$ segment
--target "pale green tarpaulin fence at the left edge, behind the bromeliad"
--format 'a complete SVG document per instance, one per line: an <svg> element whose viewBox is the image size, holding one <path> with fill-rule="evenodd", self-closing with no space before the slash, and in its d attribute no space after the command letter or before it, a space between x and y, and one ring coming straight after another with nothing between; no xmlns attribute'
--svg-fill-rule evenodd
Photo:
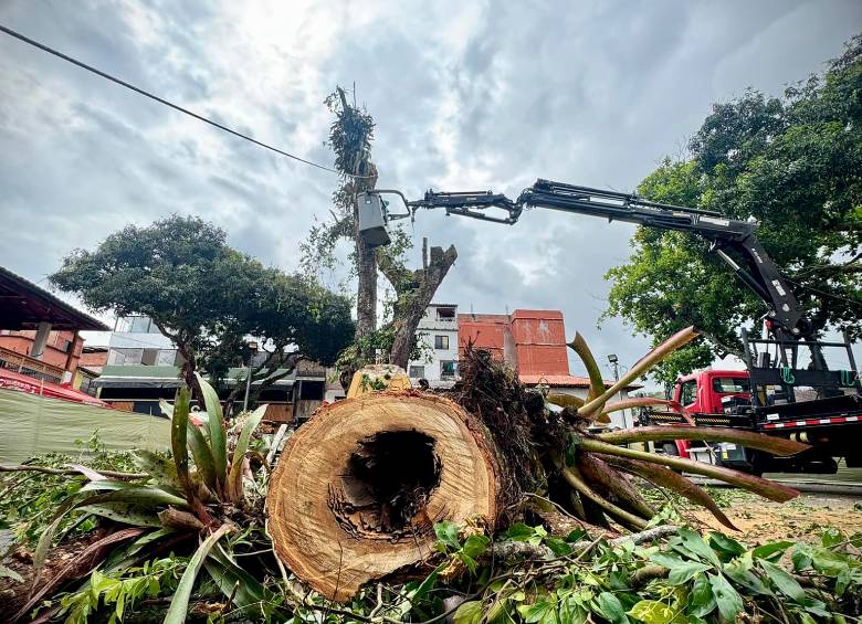
<svg viewBox="0 0 862 624"><path fill-rule="evenodd" d="M18 464L33 455L63 453L77 456L76 440L98 438L112 451L170 447L170 421L0 390L0 462Z"/></svg>

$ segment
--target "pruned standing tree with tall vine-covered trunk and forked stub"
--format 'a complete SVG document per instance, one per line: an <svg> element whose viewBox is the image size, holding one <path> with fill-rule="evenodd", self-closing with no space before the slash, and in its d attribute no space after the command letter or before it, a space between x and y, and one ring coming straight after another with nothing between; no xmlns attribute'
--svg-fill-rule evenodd
<svg viewBox="0 0 862 624"><path fill-rule="evenodd" d="M369 247L359 234L356 195L370 191L377 182L377 168L371 162L375 123L365 110L347 102L343 88L326 98L335 115L329 146L335 152L335 168L343 184L333 193L333 221L315 225L303 244L303 264L309 272L336 263L335 246L341 240L353 244L350 262L357 277L356 342L346 362L348 372L375 360L378 351L388 353L391 363L407 368L416 351L416 330L438 287L458 257L454 246L443 251L422 246L422 268L409 269L404 254L412 248L408 234L400 228L391 231L392 243L386 247ZM377 272L392 285L396 300L391 318L378 328Z"/></svg>

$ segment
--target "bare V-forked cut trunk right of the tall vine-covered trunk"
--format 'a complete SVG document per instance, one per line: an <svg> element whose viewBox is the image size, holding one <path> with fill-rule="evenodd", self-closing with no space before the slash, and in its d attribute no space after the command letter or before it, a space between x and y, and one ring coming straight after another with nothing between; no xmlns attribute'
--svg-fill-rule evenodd
<svg viewBox="0 0 862 624"><path fill-rule="evenodd" d="M398 295L398 305L392 322L396 326L395 340L389 351L389 363L407 370L410 351L416 340L419 321L434 298L437 289L458 258L454 245L443 252L443 247L431 247L431 258L428 258L428 239L422 240L422 268L408 271L400 263L380 257L380 271L392 284Z"/></svg>

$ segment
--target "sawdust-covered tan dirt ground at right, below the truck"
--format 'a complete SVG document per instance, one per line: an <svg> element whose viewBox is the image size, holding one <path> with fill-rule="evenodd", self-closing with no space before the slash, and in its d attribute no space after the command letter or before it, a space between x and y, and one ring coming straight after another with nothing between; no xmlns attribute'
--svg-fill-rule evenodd
<svg viewBox="0 0 862 624"><path fill-rule="evenodd" d="M821 529L835 527L847 535L862 532L862 499L849 496L802 494L788 503L772 503L738 490L711 494L739 528L736 539L749 544L788 539L818 542ZM706 510L687 509L704 528L728 532Z"/></svg>

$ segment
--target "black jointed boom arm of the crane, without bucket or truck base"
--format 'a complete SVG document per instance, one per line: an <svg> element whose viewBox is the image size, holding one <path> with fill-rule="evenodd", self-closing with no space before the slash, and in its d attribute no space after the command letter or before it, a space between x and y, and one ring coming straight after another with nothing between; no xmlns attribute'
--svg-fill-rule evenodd
<svg viewBox="0 0 862 624"><path fill-rule="evenodd" d="M487 192L441 193L428 191L423 200L409 202L418 208L443 208L456 214L513 224L524 209L544 208L575 214L603 216L646 228L697 234L712 243L716 252L755 294L769 307L768 317L788 338L809 337L809 324L787 281L766 253L755 231L757 223L727 219L718 212L646 201L637 194L577 187L550 180L536 180L516 201ZM506 216L491 216L485 209L496 208ZM725 250L735 250L745 258L740 266Z"/></svg>

